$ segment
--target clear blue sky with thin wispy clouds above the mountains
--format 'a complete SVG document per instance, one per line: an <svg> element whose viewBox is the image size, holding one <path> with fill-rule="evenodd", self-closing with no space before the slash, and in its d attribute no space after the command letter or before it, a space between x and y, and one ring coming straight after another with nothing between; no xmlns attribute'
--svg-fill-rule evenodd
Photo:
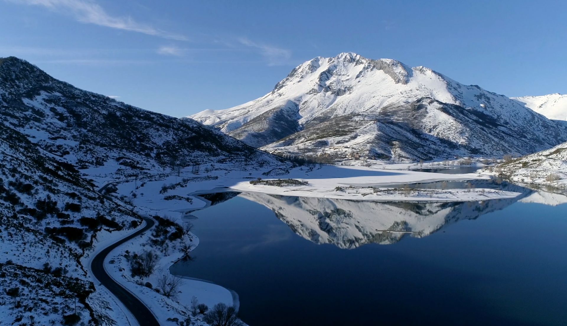
<svg viewBox="0 0 567 326"><path fill-rule="evenodd" d="M340 52L507 96L565 94L565 12L565 1L0 0L0 56L177 117L256 99Z"/></svg>

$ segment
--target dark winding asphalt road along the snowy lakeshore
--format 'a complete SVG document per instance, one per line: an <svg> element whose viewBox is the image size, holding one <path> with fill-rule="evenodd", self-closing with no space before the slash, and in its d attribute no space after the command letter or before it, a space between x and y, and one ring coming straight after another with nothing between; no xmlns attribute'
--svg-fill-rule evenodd
<svg viewBox="0 0 567 326"><path fill-rule="evenodd" d="M100 188L99 192L108 186L105 185ZM103 195L104 196L104 195ZM96 277L104 287L106 287L112 294L116 296L124 304L124 306L130 311L130 313L136 318L140 326L159 326L158 320L155 318L154 314L150 311L145 304L143 304L136 296L130 293L128 290L124 289L119 283L107 274L104 270L104 260L107 255L112 251L112 249L118 247L122 243L142 234L143 232L149 230L154 226L155 221L152 218L142 216L144 221L146 221L146 226L142 227L140 230L126 236L108 247L104 248L103 251L99 252L91 262L92 274Z"/></svg>

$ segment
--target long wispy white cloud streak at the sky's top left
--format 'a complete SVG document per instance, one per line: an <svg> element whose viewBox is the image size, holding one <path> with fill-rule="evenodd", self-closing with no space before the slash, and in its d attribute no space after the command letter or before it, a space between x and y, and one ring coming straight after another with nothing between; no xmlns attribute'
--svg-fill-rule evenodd
<svg viewBox="0 0 567 326"><path fill-rule="evenodd" d="M86 24L121 29L147 35L159 36L164 39L185 41L187 37L162 31L147 24L136 22L131 17L109 15L98 3L90 0L5 0L24 5L43 6L54 12L72 16L75 20Z"/></svg>

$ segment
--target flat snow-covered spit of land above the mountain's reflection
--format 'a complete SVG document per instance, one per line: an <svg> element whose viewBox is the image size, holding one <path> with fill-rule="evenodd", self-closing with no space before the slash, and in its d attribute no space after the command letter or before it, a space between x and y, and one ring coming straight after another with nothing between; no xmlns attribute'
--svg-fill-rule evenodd
<svg viewBox="0 0 567 326"><path fill-rule="evenodd" d="M336 171L340 170L340 171ZM339 173L343 177L334 177ZM419 171L388 171L373 167L322 167L308 173L289 173L277 179L294 179L306 185L262 185L241 181L230 186L243 192L261 192L281 196L321 197L370 201L481 201L513 198L515 192L496 189L415 189L404 190L406 184L433 183L438 181L489 180L490 176L466 174L443 174ZM301 178L300 178L301 177ZM269 178L270 180L274 178Z"/></svg>

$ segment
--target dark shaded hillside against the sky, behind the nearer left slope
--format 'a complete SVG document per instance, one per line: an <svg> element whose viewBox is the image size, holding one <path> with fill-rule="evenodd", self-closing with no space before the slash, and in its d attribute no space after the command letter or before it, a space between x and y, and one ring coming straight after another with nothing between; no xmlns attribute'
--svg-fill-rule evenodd
<svg viewBox="0 0 567 326"><path fill-rule="evenodd" d="M191 119L79 90L15 57L0 59L0 116L49 155L95 174L142 175L219 160L278 162Z"/></svg>

